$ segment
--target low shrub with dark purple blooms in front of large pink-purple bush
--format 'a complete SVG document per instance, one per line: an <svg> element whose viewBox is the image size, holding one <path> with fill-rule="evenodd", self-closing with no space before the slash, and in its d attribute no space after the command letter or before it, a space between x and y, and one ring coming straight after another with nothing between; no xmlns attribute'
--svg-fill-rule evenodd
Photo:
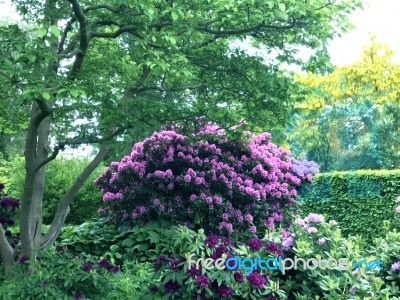
<svg viewBox="0 0 400 300"><path fill-rule="evenodd" d="M227 236L206 236L202 229L194 232L179 227L170 236L169 247L153 260L154 278L160 283L151 285L143 299L284 299L286 293L279 288L279 272L209 269L196 261L234 256L277 257L284 255L282 242L288 237L288 232L275 231L263 239L253 237L246 243L237 243Z"/></svg>

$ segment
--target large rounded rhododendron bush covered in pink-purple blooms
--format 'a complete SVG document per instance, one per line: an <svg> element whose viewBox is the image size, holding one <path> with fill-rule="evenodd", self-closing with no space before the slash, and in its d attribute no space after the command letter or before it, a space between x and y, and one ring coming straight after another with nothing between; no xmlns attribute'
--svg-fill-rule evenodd
<svg viewBox="0 0 400 300"><path fill-rule="evenodd" d="M99 213L116 223L163 217L228 235L285 227L307 178L293 171L290 152L269 133L244 137L230 140L212 124L191 137L154 133L95 180L104 201Z"/></svg>

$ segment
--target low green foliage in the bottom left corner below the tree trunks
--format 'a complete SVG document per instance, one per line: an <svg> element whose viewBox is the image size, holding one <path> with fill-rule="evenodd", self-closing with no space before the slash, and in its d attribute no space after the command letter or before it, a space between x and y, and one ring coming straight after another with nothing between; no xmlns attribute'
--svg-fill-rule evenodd
<svg viewBox="0 0 400 300"><path fill-rule="evenodd" d="M150 284L148 270L133 261L120 270L106 259L52 248L35 260L21 257L12 279L0 274L0 299L128 299Z"/></svg>

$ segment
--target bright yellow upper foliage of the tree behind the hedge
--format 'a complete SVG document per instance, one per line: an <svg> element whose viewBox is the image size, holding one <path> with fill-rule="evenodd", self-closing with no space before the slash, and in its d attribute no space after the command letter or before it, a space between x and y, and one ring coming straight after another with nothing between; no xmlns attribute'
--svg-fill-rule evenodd
<svg viewBox="0 0 400 300"><path fill-rule="evenodd" d="M337 103L362 102L369 99L377 104L397 102L400 98L400 65L393 61L394 51L377 43L371 36L370 45L358 61L341 66L330 74L300 75L297 80L312 89L299 107L319 109Z"/></svg>

